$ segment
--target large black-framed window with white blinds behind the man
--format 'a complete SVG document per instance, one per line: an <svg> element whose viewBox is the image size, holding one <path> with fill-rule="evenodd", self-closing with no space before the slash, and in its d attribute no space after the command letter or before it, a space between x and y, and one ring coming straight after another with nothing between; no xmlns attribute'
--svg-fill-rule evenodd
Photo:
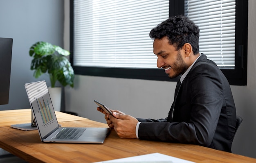
<svg viewBox="0 0 256 163"><path fill-rule="evenodd" d="M148 34L185 14L200 27L200 52L231 85L246 85L247 11L243 0L71 0L71 63L76 74L176 80L157 68Z"/></svg>

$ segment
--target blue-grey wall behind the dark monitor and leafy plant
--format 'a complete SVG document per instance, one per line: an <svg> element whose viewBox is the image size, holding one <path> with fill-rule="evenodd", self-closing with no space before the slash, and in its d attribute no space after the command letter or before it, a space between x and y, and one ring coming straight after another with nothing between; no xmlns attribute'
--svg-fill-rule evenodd
<svg viewBox="0 0 256 163"><path fill-rule="evenodd" d="M36 79L30 70L29 48L36 41L47 41L63 47L64 1L62 0L1 0L0 37L13 38L9 104L0 110L30 108L25 83Z"/></svg>

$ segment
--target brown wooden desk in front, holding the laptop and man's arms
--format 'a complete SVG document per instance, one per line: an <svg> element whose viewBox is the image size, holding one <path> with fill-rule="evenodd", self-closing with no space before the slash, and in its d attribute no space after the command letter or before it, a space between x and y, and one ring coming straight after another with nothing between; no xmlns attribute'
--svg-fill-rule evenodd
<svg viewBox="0 0 256 163"><path fill-rule="evenodd" d="M0 111L0 114L2 112ZM65 115L70 117L71 115ZM66 127L108 127L92 120L60 122ZM0 148L31 163L87 163L159 152L197 163L256 163L256 159L202 146L121 139L111 131L103 144L42 143L37 130L0 128Z"/></svg>

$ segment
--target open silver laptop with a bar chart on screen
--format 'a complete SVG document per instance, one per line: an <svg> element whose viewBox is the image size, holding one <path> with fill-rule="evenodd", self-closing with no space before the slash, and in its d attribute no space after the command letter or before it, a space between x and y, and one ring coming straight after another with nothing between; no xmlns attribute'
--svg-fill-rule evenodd
<svg viewBox="0 0 256 163"><path fill-rule="evenodd" d="M27 96L43 142L103 143L110 128L59 127L45 80L26 83Z"/></svg>

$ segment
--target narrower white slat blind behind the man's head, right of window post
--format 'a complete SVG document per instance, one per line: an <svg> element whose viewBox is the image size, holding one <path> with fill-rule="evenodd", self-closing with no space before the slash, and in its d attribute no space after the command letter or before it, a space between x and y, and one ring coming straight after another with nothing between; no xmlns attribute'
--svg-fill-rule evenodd
<svg viewBox="0 0 256 163"><path fill-rule="evenodd" d="M236 0L185 0L185 15L200 28L200 52L234 69Z"/></svg>

